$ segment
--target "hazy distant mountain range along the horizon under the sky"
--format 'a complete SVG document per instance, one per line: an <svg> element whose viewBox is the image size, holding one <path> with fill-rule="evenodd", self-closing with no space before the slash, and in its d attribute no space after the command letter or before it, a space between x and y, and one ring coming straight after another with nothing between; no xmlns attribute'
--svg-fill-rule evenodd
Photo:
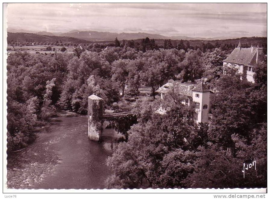
<svg viewBox="0 0 270 199"><path fill-rule="evenodd" d="M150 34L145 32L137 32L137 33L115 33L115 32L98 32L98 31L80 31L80 30L72 30L69 32L35 32L24 29L12 29L8 28L8 32L16 33L16 32L26 32L26 33L35 33L38 35L48 35L48 36L60 36L60 37L73 37L86 41L113 41L117 37L118 40L131 40L131 39L141 39L141 38L150 38L150 39L172 39L172 40L217 40L217 39L228 39L231 37L214 37L214 38L202 38L202 37L188 37L188 36L164 36L159 34Z"/></svg>

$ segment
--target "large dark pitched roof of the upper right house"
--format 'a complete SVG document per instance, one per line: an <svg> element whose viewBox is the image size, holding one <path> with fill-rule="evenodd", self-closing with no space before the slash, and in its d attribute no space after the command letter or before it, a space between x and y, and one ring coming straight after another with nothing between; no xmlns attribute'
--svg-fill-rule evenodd
<svg viewBox="0 0 270 199"><path fill-rule="evenodd" d="M253 66L254 63L256 63L257 50L258 49L253 49L251 52L251 48L234 48L232 53L223 61Z"/></svg>

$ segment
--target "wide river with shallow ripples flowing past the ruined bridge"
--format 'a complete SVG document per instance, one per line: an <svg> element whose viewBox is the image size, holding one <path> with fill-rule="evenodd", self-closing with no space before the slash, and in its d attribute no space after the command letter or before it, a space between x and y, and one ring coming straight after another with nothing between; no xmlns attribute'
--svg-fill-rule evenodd
<svg viewBox="0 0 270 199"><path fill-rule="evenodd" d="M8 157L8 188L105 188L106 158L122 135L107 128L102 142L93 142L87 131L87 116L58 112L32 144Z"/></svg>

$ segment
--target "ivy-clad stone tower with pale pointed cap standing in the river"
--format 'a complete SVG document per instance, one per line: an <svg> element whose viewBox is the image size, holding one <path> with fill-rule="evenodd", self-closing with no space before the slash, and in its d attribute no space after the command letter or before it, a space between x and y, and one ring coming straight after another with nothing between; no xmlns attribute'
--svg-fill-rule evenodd
<svg viewBox="0 0 270 199"><path fill-rule="evenodd" d="M103 99L91 95L88 97L88 137L99 142L102 136Z"/></svg>

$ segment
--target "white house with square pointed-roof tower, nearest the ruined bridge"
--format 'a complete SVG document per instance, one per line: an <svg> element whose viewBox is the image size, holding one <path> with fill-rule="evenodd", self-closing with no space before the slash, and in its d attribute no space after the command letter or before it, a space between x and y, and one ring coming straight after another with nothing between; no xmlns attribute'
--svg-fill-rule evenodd
<svg viewBox="0 0 270 199"><path fill-rule="evenodd" d="M167 83L156 90L156 92L160 94L161 99L167 100L166 93L171 86L173 86L172 83ZM197 84L177 83L177 87L179 88L180 94L186 96L182 104L190 106L191 101L196 103L196 114L193 115L193 121L195 121L196 124L208 123L209 119L212 117L211 114L209 114L210 93L212 92L206 88L202 81L199 81Z"/></svg>

